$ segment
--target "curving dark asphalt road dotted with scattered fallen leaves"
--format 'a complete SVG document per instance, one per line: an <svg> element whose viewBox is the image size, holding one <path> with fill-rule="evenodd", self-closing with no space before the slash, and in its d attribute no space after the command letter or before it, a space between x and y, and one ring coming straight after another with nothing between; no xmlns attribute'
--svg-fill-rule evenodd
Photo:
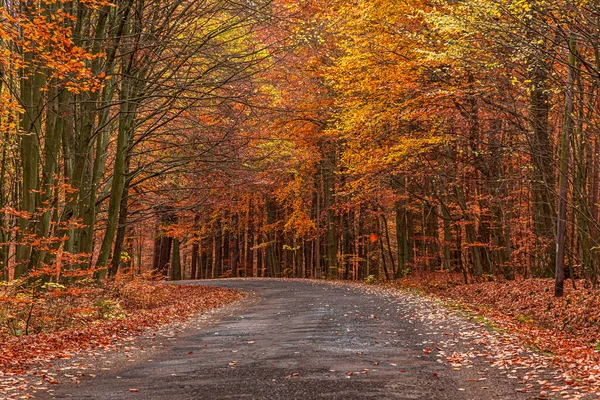
<svg viewBox="0 0 600 400"><path fill-rule="evenodd" d="M474 346L459 332L475 332L481 325L420 296L365 294L355 285L305 280L185 284L229 287L250 295L242 307L180 332L151 355L114 363L94 378L81 378L78 387L56 385L43 398L533 397L518 392L523 386L491 367L485 357L475 357L462 368L451 366L444 353Z"/></svg>

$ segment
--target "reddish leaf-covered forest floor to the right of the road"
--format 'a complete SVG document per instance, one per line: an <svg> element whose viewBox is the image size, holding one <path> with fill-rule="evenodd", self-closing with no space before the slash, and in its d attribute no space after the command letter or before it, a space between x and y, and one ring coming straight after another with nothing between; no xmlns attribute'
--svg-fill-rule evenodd
<svg viewBox="0 0 600 400"><path fill-rule="evenodd" d="M569 391L600 393L600 292L583 281L565 283L565 296L554 297L554 281L517 279L465 285L458 275L412 275L377 285L386 291L430 295L445 307L466 314L488 327L480 343L495 351L496 364L533 370L553 366L555 379L541 382L543 395ZM523 357L521 348L535 349L537 357ZM541 357L541 359L540 359ZM542 360L542 361L540 361ZM518 377L527 387L540 383L532 375Z"/></svg>

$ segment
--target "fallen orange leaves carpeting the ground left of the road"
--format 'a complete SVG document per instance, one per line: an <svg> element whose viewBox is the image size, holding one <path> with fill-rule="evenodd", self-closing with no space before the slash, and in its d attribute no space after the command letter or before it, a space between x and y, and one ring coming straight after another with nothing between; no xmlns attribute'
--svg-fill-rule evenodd
<svg viewBox="0 0 600 400"><path fill-rule="evenodd" d="M85 290L71 299L70 307L71 311L86 311L85 317L70 318L69 326L52 325L49 332L20 336L0 329L0 399L27 399L36 391L50 390L59 381L49 371L61 359L85 358L86 352L97 355L98 351L121 349L123 343L128 344L149 329L188 320L241 298L239 292L223 288L143 280L122 284L118 289ZM47 317L56 304L46 300L37 312ZM107 301L110 312L99 312L98 308L106 307ZM127 351L127 346L124 348Z"/></svg>

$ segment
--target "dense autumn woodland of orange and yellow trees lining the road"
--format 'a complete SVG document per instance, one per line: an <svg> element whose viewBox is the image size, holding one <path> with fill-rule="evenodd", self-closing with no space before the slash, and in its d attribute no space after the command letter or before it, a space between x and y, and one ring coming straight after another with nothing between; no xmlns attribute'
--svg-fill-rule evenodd
<svg viewBox="0 0 600 400"><path fill-rule="evenodd" d="M600 277L600 6L0 0L5 280Z"/></svg>

